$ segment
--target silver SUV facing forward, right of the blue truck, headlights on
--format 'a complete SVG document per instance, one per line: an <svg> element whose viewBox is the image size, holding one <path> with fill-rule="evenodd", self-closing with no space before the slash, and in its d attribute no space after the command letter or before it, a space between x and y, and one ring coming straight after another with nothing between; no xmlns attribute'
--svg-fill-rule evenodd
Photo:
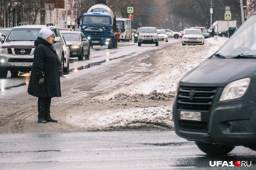
<svg viewBox="0 0 256 170"><path fill-rule="evenodd" d="M155 27L141 27L138 37L138 46L141 44L155 44L158 46L158 33Z"/></svg>

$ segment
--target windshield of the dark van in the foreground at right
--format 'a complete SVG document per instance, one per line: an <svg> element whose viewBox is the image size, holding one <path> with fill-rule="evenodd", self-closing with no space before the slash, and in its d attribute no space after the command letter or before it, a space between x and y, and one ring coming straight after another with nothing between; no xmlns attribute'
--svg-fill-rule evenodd
<svg viewBox="0 0 256 170"><path fill-rule="evenodd" d="M256 15L249 17L216 54L226 58L240 54L256 56Z"/></svg>

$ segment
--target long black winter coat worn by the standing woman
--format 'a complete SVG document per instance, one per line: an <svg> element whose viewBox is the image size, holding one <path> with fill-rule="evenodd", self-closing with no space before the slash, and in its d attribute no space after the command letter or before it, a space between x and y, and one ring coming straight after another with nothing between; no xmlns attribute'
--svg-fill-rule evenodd
<svg viewBox="0 0 256 170"><path fill-rule="evenodd" d="M41 37L35 41L34 61L28 84L28 94L36 97L61 97L59 58L52 44ZM44 83L39 85L39 79Z"/></svg>

